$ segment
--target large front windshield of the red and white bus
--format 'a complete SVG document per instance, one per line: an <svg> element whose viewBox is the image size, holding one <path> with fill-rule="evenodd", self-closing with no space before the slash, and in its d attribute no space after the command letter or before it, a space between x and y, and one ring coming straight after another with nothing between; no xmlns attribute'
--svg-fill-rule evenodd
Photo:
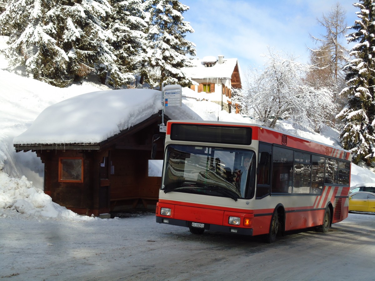
<svg viewBox="0 0 375 281"><path fill-rule="evenodd" d="M255 153L244 149L169 145L162 190L252 198Z"/></svg>

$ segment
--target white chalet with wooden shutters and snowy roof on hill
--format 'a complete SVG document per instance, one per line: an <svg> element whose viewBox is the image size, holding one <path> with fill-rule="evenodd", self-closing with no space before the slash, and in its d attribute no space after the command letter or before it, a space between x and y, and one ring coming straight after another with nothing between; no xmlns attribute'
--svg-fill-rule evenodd
<svg viewBox="0 0 375 281"><path fill-rule="evenodd" d="M232 89L241 89L241 70L237 58L225 59L223 55L193 60L193 67L183 69L194 84L190 89L200 93L202 99L222 106L229 113L240 113L241 106L232 103Z"/></svg>

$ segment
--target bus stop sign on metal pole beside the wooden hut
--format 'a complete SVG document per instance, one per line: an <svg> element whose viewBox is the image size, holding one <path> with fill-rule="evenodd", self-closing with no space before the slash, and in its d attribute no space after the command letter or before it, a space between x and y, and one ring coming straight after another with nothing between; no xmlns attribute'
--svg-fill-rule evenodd
<svg viewBox="0 0 375 281"><path fill-rule="evenodd" d="M164 111L166 106L182 106L182 87L181 85L166 85L162 83L162 124L159 125L159 132L166 132L164 125Z"/></svg>

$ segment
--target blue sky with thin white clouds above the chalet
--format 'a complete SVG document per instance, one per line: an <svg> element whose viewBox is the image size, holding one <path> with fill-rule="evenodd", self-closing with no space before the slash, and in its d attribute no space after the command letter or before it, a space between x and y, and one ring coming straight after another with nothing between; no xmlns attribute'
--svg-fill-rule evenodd
<svg viewBox="0 0 375 281"><path fill-rule="evenodd" d="M307 48L325 30L317 23L337 2L346 10L347 26L357 19L355 0L180 0L190 7L183 13L195 30L186 39L196 45L196 57L224 55L238 58L242 71L261 68L267 46L308 62ZM347 48L347 41L342 39Z"/></svg>

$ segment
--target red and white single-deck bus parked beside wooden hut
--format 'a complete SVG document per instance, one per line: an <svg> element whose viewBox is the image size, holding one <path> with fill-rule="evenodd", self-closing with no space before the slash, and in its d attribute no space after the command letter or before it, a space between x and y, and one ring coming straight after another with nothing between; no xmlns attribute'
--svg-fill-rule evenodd
<svg viewBox="0 0 375 281"><path fill-rule="evenodd" d="M351 153L254 124L168 121L156 222L265 235L348 217Z"/></svg>

